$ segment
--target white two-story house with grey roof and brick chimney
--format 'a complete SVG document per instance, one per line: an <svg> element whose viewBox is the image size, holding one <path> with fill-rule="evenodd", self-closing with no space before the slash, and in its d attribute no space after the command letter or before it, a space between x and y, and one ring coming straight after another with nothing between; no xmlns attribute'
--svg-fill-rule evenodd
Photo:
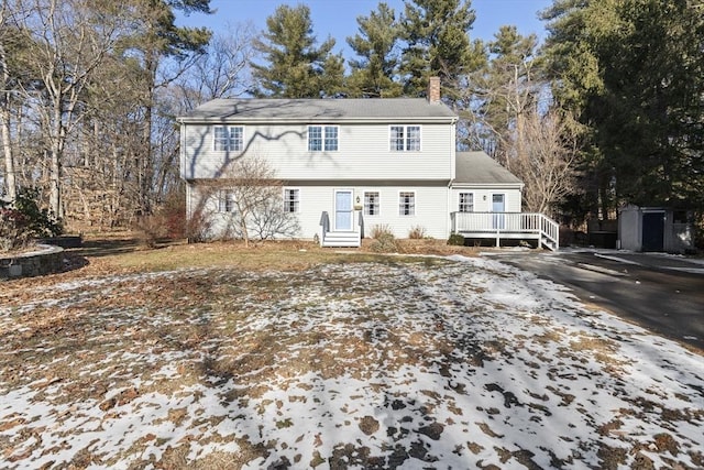
<svg viewBox="0 0 704 470"><path fill-rule="evenodd" d="M484 153L457 152L458 116L440 100L439 79L428 96L204 103L178 119L189 217L208 204L221 230L232 210L227 193L204 201L200 189L227 178L232 162L256 157L285 182L280 203L297 218L297 238L359 245L377 225L397 238L415 228L438 239L507 238L522 183ZM471 220L472 212L503 219Z"/></svg>

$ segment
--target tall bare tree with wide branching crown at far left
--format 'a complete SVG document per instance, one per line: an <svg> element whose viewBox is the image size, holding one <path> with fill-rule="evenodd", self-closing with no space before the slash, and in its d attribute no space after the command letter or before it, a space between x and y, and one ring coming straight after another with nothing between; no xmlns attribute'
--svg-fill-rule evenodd
<svg viewBox="0 0 704 470"><path fill-rule="evenodd" d="M25 89L35 102L47 142L50 210L62 216L62 160L82 117L82 95L95 70L125 31L121 2L18 0L14 22L26 34L25 61L40 87ZM112 21L103 21L106 14Z"/></svg>

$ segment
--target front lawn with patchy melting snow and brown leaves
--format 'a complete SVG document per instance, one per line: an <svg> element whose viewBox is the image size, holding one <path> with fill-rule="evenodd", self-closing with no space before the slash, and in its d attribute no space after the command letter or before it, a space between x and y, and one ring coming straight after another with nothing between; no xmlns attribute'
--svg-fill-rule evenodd
<svg viewBox="0 0 704 470"><path fill-rule="evenodd" d="M2 468L703 468L704 358L486 259L0 286Z"/></svg>

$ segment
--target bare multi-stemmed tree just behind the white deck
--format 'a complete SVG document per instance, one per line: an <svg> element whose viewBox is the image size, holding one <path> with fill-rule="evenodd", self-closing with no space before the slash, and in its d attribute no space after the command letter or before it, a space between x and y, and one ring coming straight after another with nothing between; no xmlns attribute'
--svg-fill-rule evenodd
<svg viewBox="0 0 704 470"><path fill-rule="evenodd" d="M573 193L579 132L570 117L537 109L524 114L521 154L512 171L526 184L524 204L534 212L554 217L556 205Z"/></svg>

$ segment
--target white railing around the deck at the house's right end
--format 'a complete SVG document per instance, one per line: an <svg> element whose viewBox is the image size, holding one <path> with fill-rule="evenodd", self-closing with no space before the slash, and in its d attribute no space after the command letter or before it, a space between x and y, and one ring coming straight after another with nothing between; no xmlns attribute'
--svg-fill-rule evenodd
<svg viewBox="0 0 704 470"><path fill-rule="evenodd" d="M558 249L560 226L554 220L537 212L452 212L452 232L475 237L531 236L543 238ZM546 243L548 244L548 243Z"/></svg>

